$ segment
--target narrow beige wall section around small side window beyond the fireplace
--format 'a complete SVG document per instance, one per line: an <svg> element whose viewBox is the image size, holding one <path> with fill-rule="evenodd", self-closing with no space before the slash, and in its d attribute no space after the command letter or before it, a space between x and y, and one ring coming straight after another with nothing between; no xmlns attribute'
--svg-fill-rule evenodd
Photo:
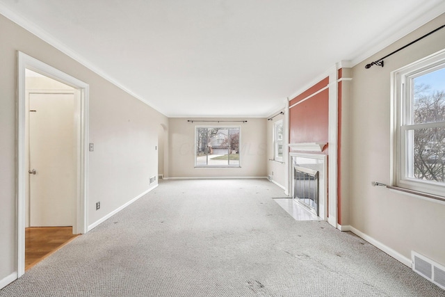
<svg viewBox="0 0 445 297"><path fill-rule="evenodd" d="M284 111L284 109L282 111ZM277 111L277 113L280 113L280 111ZM274 113L273 115L276 115L277 113ZM287 170L287 163L280 163L273 161L274 158L273 124L279 120L283 120L284 133L286 133L287 129L284 127L284 125L286 125L286 122L284 121L284 115L277 115L272 120L267 121L267 174L272 175L273 182L286 188L285 175ZM284 150L288 150L288 148L286 146L285 141L283 141L283 143L284 143L283 146L283 162L284 162L285 161Z"/></svg>

